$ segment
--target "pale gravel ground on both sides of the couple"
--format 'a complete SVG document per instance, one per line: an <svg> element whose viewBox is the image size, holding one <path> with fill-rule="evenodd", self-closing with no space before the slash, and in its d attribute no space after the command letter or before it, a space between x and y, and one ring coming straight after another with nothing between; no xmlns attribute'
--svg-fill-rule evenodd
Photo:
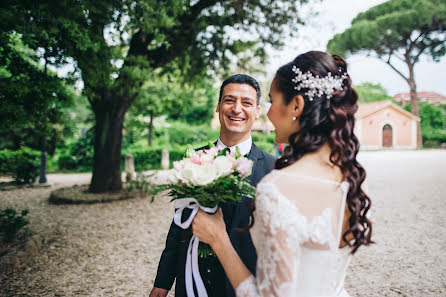
<svg viewBox="0 0 446 297"><path fill-rule="evenodd" d="M353 258L348 291L446 296L446 151L362 152L360 160L368 172L376 244ZM48 204L55 188L89 179L52 174L51 188L0 192L0 208L29 208L30 227L45 238L38 256L13 275L0 275L0 296L148 296L172 204L162 198Z"/></svg>

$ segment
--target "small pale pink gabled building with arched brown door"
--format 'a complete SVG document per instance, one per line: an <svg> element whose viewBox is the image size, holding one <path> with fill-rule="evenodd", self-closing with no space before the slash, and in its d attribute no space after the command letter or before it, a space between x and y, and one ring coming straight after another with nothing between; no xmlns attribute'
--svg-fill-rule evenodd
<svg viewBox="0 0 446 297"><path fill-rule="evenodd" d="M355 134L362 149L416 148L420 118L391 101L359 104Z"/></svg>

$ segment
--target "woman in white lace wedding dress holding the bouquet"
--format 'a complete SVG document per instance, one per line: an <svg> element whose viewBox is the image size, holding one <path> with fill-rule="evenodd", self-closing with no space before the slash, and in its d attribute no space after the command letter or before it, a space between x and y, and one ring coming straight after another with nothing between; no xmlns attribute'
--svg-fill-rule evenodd
<svg viewBox="0 0 446 297"><path fill-rule="evenodd" d="M277 70L269 96L276 142L289 145L257 186L250 226L256 276L232 247L221 210L200 211L194 235L211 245L238 297L349 296L347 266L372 243L372 225L347 65L323 52L299 55Z"/></svg>

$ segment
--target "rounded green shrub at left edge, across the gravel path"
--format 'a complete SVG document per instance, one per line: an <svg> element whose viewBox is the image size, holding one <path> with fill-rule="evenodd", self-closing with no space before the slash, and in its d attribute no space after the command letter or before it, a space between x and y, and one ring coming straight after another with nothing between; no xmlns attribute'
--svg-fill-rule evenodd
<svg viewBox="0 0 446 297"><path fill-rule="evenodd" d="M11 175L19 184L35 182L39 176L40 152L30 148L0 150L0 173Z"/></svg>

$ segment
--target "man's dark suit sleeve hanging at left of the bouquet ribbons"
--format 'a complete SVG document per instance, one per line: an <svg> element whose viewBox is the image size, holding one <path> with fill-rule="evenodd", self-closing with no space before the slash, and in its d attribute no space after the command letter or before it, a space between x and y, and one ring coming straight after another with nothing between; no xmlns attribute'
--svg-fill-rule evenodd
<svg viewBox="0 0 446 297"><path fill-rule="evenodd" d="M178 245L180 240L180 233L182 229L172 224L167 234L166 247L161 254L154 287L170 290L176 277L176 269L178 262Z"/></svg>

